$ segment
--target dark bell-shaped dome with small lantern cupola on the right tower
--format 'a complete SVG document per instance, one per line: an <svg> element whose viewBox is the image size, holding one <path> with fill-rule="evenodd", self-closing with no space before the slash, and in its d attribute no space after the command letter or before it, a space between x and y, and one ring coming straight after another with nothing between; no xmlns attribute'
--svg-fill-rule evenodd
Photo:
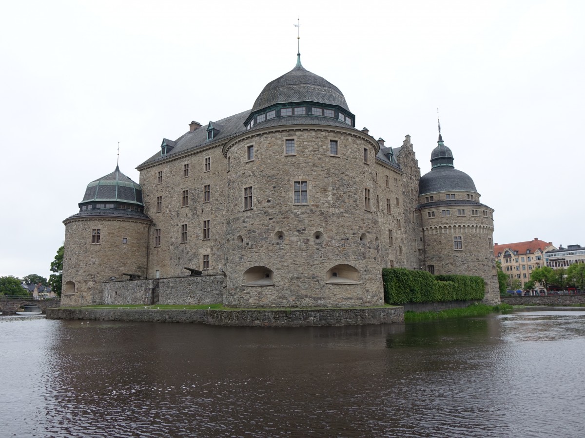
<svg viewBox="0 0 585 438"><path fill-rule="evenodd" d="M421 176L418 194L463 191L477 193L473 179L453 166L453 152L445 146L441 133L438 145L431 152L431 172Z"/></svg>

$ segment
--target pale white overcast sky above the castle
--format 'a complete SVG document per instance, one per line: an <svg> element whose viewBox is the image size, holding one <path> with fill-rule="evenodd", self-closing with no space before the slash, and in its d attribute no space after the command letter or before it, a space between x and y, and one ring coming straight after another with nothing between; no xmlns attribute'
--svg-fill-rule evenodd
<svg viewBox="0 0 585 438"><path fill-rule="evenodd" d="M2 2L0 276L48 277L85 186L301 60L430 170L439 108L494 242L585 245L583 1ZM581 225L580 225L581 224Z"/></svg>

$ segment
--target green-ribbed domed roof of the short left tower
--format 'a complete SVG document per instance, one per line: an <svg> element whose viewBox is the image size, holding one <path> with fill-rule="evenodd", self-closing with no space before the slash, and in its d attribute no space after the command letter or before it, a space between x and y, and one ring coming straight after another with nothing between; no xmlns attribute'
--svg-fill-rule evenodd
<svg viewBox="0 0 585 438"><path fill-rule="evenodd" d="M124 175L118 166L112 173L93 180L87 185L81 204L94 201L120 201L144 206L142 203L142 187Z"/></svg>

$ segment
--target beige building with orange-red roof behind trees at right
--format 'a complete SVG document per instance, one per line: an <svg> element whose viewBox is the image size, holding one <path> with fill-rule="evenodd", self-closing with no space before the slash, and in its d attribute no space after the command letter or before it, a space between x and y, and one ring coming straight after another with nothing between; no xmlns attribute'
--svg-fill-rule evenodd
<svg viewBox="0 0 585 438"><path fill-rule="evenodd" d="M494 245L494 258L502 264L502 270L510 279L518 279L521 287L530 280L532 270L546 266L544 253L556 249L552 242L539 240L537 237L528 242Z"/></svg>

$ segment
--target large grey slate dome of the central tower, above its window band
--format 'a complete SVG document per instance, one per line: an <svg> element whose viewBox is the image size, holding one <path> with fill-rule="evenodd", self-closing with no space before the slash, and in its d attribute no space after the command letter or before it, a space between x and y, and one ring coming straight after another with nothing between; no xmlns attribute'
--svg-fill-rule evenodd
<svg viewBox="0 0 585 438"><path fill-rule="evenodd" d="M338 105L349 111L343 93L335 85L304 67L300 60L295 68L269 82L254 102L252 112L288 102L318 102Z"/></svg>

